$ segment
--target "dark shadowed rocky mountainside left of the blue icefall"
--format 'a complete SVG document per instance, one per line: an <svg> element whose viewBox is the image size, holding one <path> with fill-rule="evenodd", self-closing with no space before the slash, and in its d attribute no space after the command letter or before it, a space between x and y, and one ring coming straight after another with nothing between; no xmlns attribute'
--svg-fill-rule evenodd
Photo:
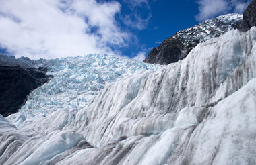
<svg viewBox="0 0 256 165"><path fill-rule="evenodd" d="M0 59L0 114L7 117L16 113L25 103L27 95L51 76L46 75L46 68L26 68L28 64L21 67L29 58L16 60L14 56L1 55Z"/></svg>

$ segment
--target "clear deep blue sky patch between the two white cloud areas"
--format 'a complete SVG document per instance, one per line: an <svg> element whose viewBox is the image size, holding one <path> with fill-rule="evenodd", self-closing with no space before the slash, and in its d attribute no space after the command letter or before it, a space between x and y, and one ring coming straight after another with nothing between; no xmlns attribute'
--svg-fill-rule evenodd
<svg viewBox="0 0 256 165"><path fill-rule="evenodd" d="M123 50L124 54L137 56L137 52L140 51L147 55L153 47L159 46L160 43L175 32L192 27L200 22L195 20L195 15L199 13L198 5L195 1L159 0L150 1L149 5L148 15L150 15L150 19L146 22L145 28L142 30L133 28L133 33L137 36L139 44L131 44L129 47L136 49L136 46L138 46L137 51L133 52L127 48Z"/></svg>

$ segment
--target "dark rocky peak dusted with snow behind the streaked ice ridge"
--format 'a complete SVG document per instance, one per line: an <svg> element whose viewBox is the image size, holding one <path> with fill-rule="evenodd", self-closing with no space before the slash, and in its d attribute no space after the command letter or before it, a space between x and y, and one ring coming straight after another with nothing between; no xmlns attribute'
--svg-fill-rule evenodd
<svg viewBox="0 0 256 165"><path fill-rule="evenodd" d="M215 38L234 29L243 15L228 14L199 23L194 27L181 30L153 48L143 62L151 64L170 64L187 56L201 42Z"/></svg>

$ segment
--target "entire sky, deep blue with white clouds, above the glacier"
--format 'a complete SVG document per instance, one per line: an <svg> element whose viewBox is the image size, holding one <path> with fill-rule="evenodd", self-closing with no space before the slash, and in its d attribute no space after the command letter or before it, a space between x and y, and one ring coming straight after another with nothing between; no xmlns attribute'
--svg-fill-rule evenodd
<svg viewBox="0 0 256 165"><path fill-rule="evenodd" d="M115 54L137 60L179 30L251 0L0 0L0 54Z"/></svg>

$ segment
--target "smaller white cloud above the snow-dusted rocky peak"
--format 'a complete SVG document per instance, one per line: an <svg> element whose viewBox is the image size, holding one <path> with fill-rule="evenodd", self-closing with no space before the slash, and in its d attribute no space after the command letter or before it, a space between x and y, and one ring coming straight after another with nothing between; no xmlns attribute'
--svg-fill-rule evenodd
<svg viewBox="0 0 256 165"><path fill-rule="evenodd" d="M197 21L204 21L226 13L243 13L249 5L249 1L244 0L199 0L199 14L195 16Z"/></svg>

